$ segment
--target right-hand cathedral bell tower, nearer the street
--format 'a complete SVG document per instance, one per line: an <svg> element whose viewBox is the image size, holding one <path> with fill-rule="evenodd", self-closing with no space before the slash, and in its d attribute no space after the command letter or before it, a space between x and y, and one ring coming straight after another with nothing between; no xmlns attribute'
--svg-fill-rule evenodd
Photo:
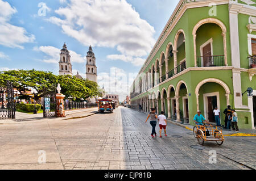
<svg viewBox="0 0 256 181"><path fill-rule="evenodd" d="M86 61L86 79L97 83L96 58L91 46L87 52Z"/></svg>

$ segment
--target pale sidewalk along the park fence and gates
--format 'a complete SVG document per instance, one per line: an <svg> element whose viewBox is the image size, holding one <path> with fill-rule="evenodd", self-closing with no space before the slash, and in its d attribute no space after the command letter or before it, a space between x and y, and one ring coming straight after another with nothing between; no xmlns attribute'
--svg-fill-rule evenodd
<svg viewBox="0 0 256 181"><path fill-rule="evenodd" d="M67 110L65 111L66 117L43 117L43 113L28 114L22 112L16 112L16 119L3 119L0 120L0 124L15 124L19 122L31 122L31 121L46 121L46 120L70 120L70 119L79 119L82 117L88 117L96 114L98 108L88 108L82 110Z"/></svg>

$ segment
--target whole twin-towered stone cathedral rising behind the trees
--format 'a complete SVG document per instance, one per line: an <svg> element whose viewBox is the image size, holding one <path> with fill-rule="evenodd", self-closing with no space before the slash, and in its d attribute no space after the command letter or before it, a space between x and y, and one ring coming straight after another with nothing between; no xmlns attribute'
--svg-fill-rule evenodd
<svg viewBox="0 0 256 181"><path fill-rule="evenodd" d="M92 46L89 47L89 51L86 56L86 79L97 83L97 66L96 58L93 53ZM73 75L71 56L69 55L69 50L67 45L64 43L63 48L60 50L60 61L59 61L59 75ZM76 78L82 78L77 71Z"/></svg>

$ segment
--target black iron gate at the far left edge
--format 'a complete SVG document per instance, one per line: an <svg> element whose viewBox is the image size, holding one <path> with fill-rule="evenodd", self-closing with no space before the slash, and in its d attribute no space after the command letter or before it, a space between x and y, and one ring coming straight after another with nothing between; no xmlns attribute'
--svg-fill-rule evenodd
<svg viewBox="0 0 256 181"><path fill-rule="evenodd" d="M7 81L6 86L0 86L0 119L15 119L15 111L13 84Z"/></svg>

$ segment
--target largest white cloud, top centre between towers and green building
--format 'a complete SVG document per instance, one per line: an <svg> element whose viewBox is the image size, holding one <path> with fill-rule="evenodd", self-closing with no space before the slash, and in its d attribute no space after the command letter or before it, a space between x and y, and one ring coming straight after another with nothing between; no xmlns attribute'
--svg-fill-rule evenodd
<svg viewBox="0 0 256 181"><path fill-rule="evenodd" d="M138 12L126 0L70 0L60 7L49 22L85 46L116 48L125 61L142 65L154 46L154 27L140 18Z"/></svg>

